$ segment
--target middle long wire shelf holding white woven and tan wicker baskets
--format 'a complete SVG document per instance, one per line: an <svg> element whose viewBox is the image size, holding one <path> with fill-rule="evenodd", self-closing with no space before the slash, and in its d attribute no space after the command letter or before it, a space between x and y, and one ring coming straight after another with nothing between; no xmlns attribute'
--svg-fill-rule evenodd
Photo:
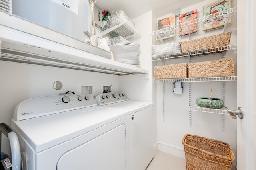
<svg viewBox="0 0 256 170"><path fill-rule="evenodd" d="M211 55L211 54L216 54L216 53L227 53L227 52L233 52L237 48L237 45L228 45L228 46L223 46L223 47L216 47L212 49L203 49L203 50L198 50L198 51L190 51L186 53L179 53L179 54L173 54L173 55L166 55L162 57L154 57L152 58L153 61L156 60L163 60L163 59L177 59L180 57L197 57L197 56L202 56L202 55Z"/></svg>

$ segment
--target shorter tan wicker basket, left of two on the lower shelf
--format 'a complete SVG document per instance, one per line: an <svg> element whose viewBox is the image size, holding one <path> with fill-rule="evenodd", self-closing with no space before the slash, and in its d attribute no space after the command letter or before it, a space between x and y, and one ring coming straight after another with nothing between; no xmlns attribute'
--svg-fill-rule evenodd
<svg viewBox="0 0 256 170"><path fill-rule="evenodd" d="M154 67L154 79L188 78L188 64L172 64Z"/></svg>

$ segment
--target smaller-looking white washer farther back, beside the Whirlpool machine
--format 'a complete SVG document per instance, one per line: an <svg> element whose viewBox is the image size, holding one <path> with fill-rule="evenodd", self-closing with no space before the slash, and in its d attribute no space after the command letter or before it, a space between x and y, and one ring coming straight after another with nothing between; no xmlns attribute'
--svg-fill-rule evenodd
<svg viewBox="0 0 256 170"><path fill-rule="evenodd" d="M128 100L122 92L99 94L99 106L130 112L130 169L145 170L154 157L153 103Z"/></svg>

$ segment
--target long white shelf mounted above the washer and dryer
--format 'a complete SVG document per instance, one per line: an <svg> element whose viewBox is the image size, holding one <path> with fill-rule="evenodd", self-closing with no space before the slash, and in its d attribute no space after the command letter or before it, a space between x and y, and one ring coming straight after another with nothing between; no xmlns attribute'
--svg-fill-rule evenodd
<svg viewBox="0 0 256 170"><path fill-rule="evenodd" d="M111 53L1 12L1 60L116 75L148 70L110 60Z"/></svg>

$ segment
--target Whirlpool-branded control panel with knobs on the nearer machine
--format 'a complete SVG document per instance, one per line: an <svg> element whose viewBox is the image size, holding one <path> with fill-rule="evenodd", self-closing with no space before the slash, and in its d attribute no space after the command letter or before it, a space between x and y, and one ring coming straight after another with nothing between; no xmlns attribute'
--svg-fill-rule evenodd
<svg viewBox="0 0 256 170"><path fill-rule="evenodd" d="M90 94L42 96L20 102L14 110L13 119L19 121L96 105Z"/></svg>

